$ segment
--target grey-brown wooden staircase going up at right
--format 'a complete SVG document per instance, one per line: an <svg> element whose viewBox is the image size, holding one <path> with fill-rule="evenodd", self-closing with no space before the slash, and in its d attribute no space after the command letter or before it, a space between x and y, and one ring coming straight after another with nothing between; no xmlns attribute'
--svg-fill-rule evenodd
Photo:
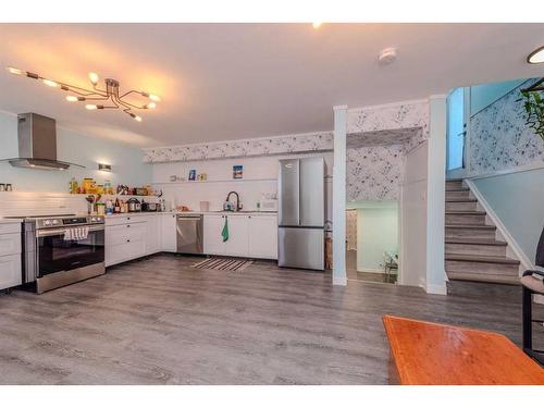
<svg viewBox="0 0 544 408"><path fill-rule="evenodd" d="M519 285L520 262L507 257L507 244L496 239L496 226L485 215L462 181L446 182L445 268L449 283Z"/></svg>

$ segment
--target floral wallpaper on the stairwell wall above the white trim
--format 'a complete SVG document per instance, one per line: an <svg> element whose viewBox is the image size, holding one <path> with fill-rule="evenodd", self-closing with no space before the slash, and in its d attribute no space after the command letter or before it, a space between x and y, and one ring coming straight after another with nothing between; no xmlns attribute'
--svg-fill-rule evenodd
<svg viewBox="0 0 544 408"><path fill-rule="evenodd" d="M526 125L520 88L511 90L470 120L470 175L544 162L544 143Z"/></svg>

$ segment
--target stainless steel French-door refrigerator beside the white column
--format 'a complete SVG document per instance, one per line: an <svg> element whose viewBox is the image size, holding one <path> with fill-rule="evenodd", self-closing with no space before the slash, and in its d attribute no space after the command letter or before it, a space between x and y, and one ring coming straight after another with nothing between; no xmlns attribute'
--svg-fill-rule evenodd
<svg viewBox="0 0 544 408"><path fill-rule="evenodd" d="M280 160L279 267L324 270L323 158Z"/></svg>

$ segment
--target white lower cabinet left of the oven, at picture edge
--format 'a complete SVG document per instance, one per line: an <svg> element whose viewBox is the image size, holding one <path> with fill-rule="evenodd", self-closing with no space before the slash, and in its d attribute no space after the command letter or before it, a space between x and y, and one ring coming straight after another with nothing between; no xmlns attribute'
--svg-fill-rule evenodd
<svg viewBox="0 0 544 408"><path fill-rule="evenodd" d="M0 225L0 289L21 285L21 224Z"/></svg>

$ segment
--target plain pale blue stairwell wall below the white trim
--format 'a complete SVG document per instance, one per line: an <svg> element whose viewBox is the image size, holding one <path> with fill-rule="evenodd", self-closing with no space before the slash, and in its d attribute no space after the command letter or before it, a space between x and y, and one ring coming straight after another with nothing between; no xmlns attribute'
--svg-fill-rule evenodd
<svg viewBox="0 0 544 408"><path fill-rule="evenodd" d="M534 262L544 226L544 169L473 180L521 250Z"/></svg>

